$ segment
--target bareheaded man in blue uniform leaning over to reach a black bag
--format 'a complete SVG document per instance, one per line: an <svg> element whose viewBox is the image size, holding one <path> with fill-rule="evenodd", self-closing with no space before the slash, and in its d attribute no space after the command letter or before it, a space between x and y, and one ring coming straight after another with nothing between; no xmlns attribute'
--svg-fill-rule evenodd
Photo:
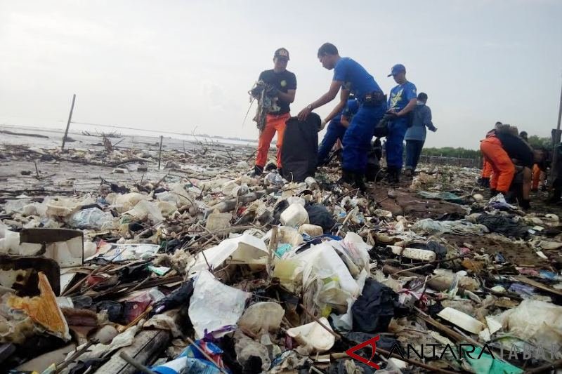
<svg viewBox="0 0 562 374"><path fill-rule="evenodd" d="M334 100L341 88L340 102L326 118L329 121L344 108L349 93L355 94L360 106L344 135L344 161L340 181L365 191L367 187L363 178L367 167L367 153L371 148L374 126L386 112L385 95L373 76L358 62L342 58L334 44L322 44L318 49L318 60L325 69L334 69L334 78L327 93L302 109L299 119L306 119L313 109Z"/></svg>

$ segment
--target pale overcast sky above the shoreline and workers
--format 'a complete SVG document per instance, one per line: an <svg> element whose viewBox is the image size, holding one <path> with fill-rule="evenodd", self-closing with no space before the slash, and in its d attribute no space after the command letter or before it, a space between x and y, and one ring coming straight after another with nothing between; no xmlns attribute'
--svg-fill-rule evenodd
<svg viewBox="0 0 562 374"><path fill-rule="evenodd" d="M74 121L256 138L247 91L275 49L296 115L329 87L326 41L387 93L406 66L438 127L428 146L476 148L495 121L556 127L561 0L0 0L0 124L63 128L76 93Z"/></svg>

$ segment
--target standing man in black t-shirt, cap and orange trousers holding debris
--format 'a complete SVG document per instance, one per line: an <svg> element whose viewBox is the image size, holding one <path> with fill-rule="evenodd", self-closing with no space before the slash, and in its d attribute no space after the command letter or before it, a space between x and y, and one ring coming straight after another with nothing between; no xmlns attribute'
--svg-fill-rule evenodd
<svg viewBox="0 0 562 374"><path fill-rule="evenodd" d="M277 105L280 109L267 114L266 126L260 131L254 175L263 173L268 159L269 145L275 132L277 132L277 168L282 168L283 133L285 133L285 122L291 117L289 104L294 101L296 91L296 76L287 70L287 62L289 62L289 51L279 48L273 55L273 69L259 74L258 81L263 81L277 89Z"/></svg>

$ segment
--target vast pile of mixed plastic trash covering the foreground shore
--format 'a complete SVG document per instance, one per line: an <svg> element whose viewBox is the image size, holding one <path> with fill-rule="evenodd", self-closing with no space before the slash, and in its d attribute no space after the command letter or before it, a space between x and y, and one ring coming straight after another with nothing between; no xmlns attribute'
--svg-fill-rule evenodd
<svg viewBox="0 0 562 374"><path fill-rule="evenodd" d="M191 175L105 175L95 192L2 197L2 368L562 366L559 215L487 199L478 171L423 168L401 187L363 195L336 185L335 168L296 183L275 170L251 178L246 161L173 156L166 162Z"/></svg>

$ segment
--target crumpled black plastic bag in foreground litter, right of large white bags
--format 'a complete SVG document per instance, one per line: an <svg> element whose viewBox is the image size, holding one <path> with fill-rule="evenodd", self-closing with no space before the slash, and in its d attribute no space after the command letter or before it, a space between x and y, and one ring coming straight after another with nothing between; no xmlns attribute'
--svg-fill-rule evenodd
<svg viewBox="0 0 562 374"><path fill-rule="evenodd" d="M386 331L394 316L398 294L384 284L367 279L362 294L353 303L353 331L377 333Z"/></svg>

